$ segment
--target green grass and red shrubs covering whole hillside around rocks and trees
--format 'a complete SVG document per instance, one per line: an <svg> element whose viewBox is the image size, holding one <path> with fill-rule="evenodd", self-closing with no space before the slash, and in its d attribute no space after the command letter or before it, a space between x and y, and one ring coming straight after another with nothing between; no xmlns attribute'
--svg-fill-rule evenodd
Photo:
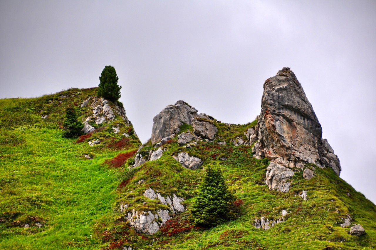
<svg viewBox="0 0 376 250"><path fill-rule="evenodd" d="M61 98L60 96L67 96ZM74 95L74 96L71 96ZM68 97L69 96L69 97ZM95 89L71 89L35 99L0 100L0 247L2 249L373 249L376 207L332 169L315 167L311 180L295 169L288 193L270 191L265 183L266 159L252 157L252 146L234 146L256 121L229 125L214 119L213 142L163 147L162 157L129 169L140 145L114 134L112 124L97 128L83 142L62 138L64 107L76 103L85 120L90 107L80 108ZM48 114L47 119L41 115ZM122 131L130 128L115 120ZM181 131L190 125L183 125ZM177 136L177 135L176 135ZM87 141L99 138L100 145ZM217 142L226 141L226 145ZM156 150L147 143L140 154ZM204 161L201 168L183 168L173 155L187 152ZM88 160L84 155L90 155ZM131 156L133 155L133 156ZM224 160L225 157L226 159ZM124 160L128 159L124 164ZM197 196L205 166L219 168L236 198L238 218L211 229L195 227L190 207ZM143 180L143 181L141 181ZM167 209L143 193L151 187L162 196L184 197L187 210L174 215L155 235L137 233L124 219L132 209ZM307 191L308 199L299 195ZM129 204L123 212L121 204ZM255 217L273 220L287 210L284 222L268 230L253 226ZM340 226L350 214L366 235L349 235ZM172 215L172 214L171 214ZM36 223L41 223L39 228ZM29 228L24 228L29 224Z"/></svg>

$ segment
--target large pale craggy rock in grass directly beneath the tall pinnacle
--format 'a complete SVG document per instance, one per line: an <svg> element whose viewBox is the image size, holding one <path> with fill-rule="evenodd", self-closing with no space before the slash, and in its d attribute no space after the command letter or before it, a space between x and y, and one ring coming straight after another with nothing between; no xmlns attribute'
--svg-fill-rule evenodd
<svg viewBox="0 0 376 250"><path fill-rule="evenodd" d="M287 181L293 177L294 172L284 166L271 162L266 171L265 183L269 189L277 189L281 192L288 192L290 183Z"/></svg>

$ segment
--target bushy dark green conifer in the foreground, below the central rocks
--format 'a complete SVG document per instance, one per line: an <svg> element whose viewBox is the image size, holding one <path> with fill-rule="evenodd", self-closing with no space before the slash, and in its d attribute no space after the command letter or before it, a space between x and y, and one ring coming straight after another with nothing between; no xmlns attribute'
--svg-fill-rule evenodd
<svg viewBox="0 0 376 250"><path fill-rule="evenodd" d="M195 226L212 227L235 218L232 212L235 197L228 190L222 173L206 166L199 195L192 207Z"/></svg>

